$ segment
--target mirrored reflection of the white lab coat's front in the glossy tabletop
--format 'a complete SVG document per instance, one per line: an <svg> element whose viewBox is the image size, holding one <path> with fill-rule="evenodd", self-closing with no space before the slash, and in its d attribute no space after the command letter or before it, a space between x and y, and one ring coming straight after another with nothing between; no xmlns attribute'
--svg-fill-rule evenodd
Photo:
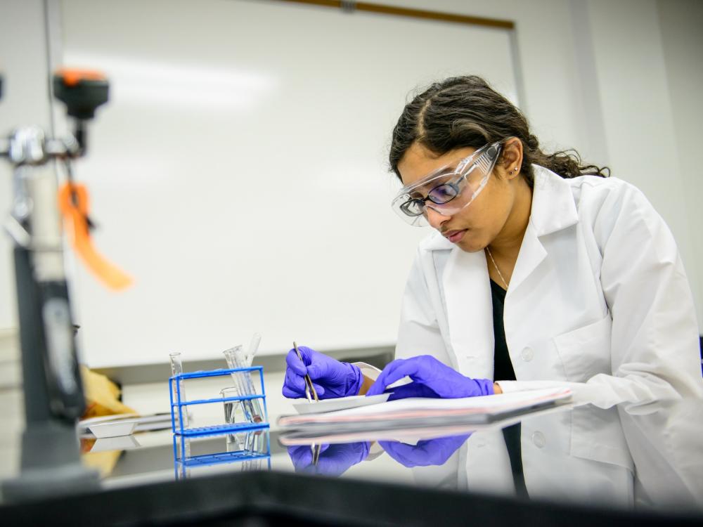
<svg viewBox="0 0 703 527"><path fill-rule="evenodd" d="M590 414L588 420L596 426L617 422L616 408L593 406L526 416L521 424L521 450L529 496L533 500L632 507L634 465L624 436L622 444L610 448L610 456L602 455L602 450L575 455L570 444L573 412L583 412L582 417ZM414 467L413 478L441 488L515 494L510 457L500 429L476 431L441 466Z"/></svg>

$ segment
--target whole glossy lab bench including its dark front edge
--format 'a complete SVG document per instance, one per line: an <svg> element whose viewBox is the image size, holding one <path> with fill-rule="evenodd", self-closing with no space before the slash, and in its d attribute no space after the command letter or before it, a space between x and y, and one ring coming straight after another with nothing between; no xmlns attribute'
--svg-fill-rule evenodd
<svg viewBox="0 0 703 527"><path fill-rule="evenodd" d="M170 431L153 431L112 452L101 488L5 504L0 514L3 525L700 525L699 407L636 415L586 405L449 432L340 434L315 465L314 439L274 430L266 462L185 477ZM200 438L193 455L224 450L225 440Z"/></svg>

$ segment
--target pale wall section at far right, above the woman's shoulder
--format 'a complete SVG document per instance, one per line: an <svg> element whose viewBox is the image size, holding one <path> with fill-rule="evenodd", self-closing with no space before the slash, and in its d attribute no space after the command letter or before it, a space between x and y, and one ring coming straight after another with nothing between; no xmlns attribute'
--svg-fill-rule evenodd
<svg viewBox="0 0 703 527"><path fill-rule="evenodd" d="M702 60L703 37L690 16L697 13L700 20L702 7L591 0L589 8L608 163L614 175L643 190L669 224L703 328L702 221L696 203L703 189L692 158L703 138L697 126L702 105L693 87L702 76L695 65Z"/></svg>

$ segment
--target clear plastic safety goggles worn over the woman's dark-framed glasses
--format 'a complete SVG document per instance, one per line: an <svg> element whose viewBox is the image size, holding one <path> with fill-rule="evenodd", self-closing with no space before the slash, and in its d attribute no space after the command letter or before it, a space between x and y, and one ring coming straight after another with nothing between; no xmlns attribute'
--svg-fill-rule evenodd
<svg viewBox="0 0 703 527"><path fill-rule="evenodd" d="M456 169L444 167L401 188L391 207L401 219L416 227L428 225L428 208L442 216L456 214L475 200L486 186L504 142L484 145L461 160Z"/></svg>

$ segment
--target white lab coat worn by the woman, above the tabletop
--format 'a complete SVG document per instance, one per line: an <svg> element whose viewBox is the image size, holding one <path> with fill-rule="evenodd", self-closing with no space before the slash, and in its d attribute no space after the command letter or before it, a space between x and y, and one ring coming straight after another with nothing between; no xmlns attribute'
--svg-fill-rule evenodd
<svg viewBox="0 0 703 527"><path fill-rule="evenodd" d="M534 175L503 316L517 381L503 391L567 383L603 408L703 398L695 308L664 220L617 178ZM421 354L493 378L486 256L437 232L418 247L396 346L396 358Z"/></svg>

